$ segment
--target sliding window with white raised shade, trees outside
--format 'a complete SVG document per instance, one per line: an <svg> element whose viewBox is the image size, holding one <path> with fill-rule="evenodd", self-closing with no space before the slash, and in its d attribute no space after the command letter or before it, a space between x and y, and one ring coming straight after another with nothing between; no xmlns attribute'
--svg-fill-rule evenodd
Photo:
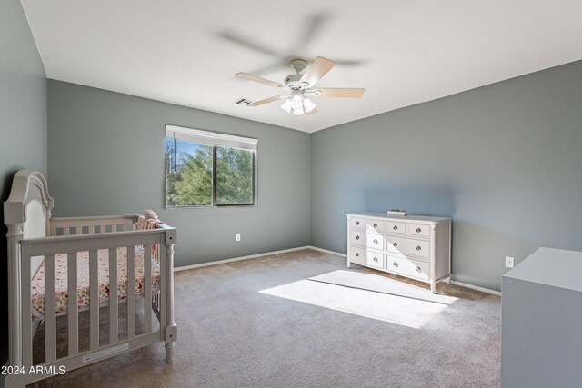
<svg viewBox="0 0 582 388"><path fill-rule="evenodd" d="M166 207L255 204L257 142L166 125Z"/></svg>

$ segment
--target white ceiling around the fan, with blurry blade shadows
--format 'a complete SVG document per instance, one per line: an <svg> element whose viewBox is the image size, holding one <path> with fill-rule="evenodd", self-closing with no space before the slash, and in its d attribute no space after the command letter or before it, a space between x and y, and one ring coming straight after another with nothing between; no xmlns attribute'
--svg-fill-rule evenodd
<svg viewBox="0 0 582 388"><path fill-rule="evenodd" d="M582 59L580 0L22 0L48 78L315 132ZM337 62L318 114L286 114L289 58ZM343 61L343 63L342 63Z"/></svg>

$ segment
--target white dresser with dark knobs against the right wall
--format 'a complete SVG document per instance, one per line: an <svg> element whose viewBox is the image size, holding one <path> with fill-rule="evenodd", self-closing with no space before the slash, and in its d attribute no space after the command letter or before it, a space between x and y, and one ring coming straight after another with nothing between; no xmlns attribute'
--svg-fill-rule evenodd
<svg viewBox="0 0 582 388"><path fill-rule="evenodd" d="M346 214L347 268L366 265L430 284L451 275L451 219L383 213Z"/></svg>

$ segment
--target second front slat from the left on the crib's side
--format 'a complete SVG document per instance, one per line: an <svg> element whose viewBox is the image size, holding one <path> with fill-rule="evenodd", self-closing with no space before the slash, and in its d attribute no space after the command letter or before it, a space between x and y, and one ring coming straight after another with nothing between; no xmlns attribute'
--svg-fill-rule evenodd
<svg viewBox="0 0 582 388"><path fill-rule="evenodd" d="M55 255L45 256L45 363L56 360Z"/></svg>

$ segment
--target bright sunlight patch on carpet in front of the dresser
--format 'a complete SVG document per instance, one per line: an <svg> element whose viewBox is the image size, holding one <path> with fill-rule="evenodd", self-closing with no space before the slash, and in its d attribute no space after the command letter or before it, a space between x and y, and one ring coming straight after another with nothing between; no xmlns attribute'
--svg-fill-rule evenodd
<svg viewBox="0 0 582 388"><path fill-rule="evenodd" d="M377 274L337 270L260 291L296 302L421 329L457 298Z"/></svg>

